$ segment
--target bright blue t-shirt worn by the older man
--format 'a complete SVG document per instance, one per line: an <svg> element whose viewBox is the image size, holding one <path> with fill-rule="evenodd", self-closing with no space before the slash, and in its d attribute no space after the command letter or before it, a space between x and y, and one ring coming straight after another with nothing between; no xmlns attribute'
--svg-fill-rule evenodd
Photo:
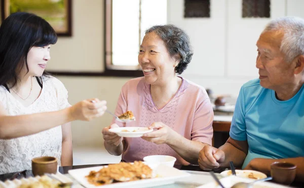
<svg viewBox="0 0 304 188"><path fill-rule="evenodd" d="M247 140L245 168L254 158L304 156L304 84L293 98L279 101L275 91L259 84L245 83L239 93L230 136Z"/></svg>

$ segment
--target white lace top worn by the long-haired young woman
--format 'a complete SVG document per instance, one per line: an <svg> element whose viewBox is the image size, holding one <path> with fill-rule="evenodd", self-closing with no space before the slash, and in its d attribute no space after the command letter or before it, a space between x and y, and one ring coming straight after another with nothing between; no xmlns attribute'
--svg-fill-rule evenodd
<svg viewBox="0 0 304 188"><path fill-rule="evenodd" d="M50 112L68 106L67 90L55 77L43 77L43 88L39 98L30 106L24 107L11 93L0 86L0 102L7 112L14 115ZM31 169L31 159L52 156L61 165L61 126L40 133L14 139L0 139L0 174Z"/></svg>

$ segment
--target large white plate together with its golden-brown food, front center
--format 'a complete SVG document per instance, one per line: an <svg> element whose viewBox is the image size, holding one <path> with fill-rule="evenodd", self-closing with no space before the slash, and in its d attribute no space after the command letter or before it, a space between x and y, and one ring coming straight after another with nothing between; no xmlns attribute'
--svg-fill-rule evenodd
<svg viewBox="0 0 304 188"><path fill-rule="evenodd" d="M165 165L146 165L142 161L69 170L85 187L150 187L174 183L190 174Z"/></svg>

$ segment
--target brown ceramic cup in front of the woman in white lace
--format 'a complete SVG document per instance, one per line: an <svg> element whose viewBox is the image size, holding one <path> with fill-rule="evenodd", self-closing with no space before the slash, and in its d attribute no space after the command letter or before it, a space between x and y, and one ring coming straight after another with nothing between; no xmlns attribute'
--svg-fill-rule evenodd
<svg viewBox="0 0 304 188"><path fill-rule="evenodd" d="M32 173L34 176L45 173L57 173L57 158L55 157L36 157L32 159Z"/></svg>

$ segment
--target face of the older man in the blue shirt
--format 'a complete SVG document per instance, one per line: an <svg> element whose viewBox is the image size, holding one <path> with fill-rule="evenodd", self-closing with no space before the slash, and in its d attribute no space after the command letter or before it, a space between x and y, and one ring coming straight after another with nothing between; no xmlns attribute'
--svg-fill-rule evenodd
<svg viewBox="0 0 304 188"><path fill-rule="evenodd" d="M283 36L281 31L267 31L257 40L256 68L262 87L277 90L295 82L295 62L285 62L280 51Z"/></svg>

